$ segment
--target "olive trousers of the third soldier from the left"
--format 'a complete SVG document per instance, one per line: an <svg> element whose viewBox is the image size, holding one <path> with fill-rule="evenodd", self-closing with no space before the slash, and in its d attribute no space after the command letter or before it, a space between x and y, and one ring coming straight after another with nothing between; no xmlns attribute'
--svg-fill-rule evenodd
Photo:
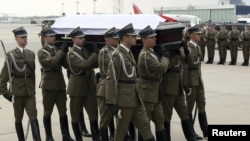
<svg viewBox="0 0 250 141"><path fill-rule="evenodd" d="M70 96L70 114L73 123L78 122L83 107L85 107L90 121L97 120L96 96Z"/></svg>

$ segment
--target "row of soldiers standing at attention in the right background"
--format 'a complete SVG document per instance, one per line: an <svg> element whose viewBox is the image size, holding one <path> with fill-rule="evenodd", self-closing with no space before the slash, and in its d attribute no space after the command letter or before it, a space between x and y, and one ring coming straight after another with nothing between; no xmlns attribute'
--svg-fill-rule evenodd
<svg viewBox="0 0 250 141"><path fill-rule="evenodd" d="M236 65L238 58L238 49L242 48L244 62L241 65L248 66L250 48L250 25L245 24L243 31L237 29L237 24L233 24L232 29L227 29L226 27L226 24L222 24L220 25L219 31L217 31L214 24L209 24L207 29L204 28L204 24L200 24L202 36L199 45L201 47L201 52L203 55L202 59L204 59L205 47L207 47L208 60L206 64L213 64L215 46L217 44L220 59L217 63L218 65L224 65L226 63L228 48L230 49L231 56L229 65ZM183 35L184 40L189 39L187 32L184 32Z"/></svg>

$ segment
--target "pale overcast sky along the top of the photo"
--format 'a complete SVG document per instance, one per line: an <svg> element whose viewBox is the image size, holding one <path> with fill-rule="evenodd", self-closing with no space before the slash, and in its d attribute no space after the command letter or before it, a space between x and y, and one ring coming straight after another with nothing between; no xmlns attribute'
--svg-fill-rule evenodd
<svg viewBox="0 0 250 141"><path fill-rule="evenodd" d="M115 0L96 0L96 13L113 13ZM219 0L122 0L123 13L133 13L132 3L135 3L143 13L153 13L154 7L176 7L188 4L217 5ZM244 0L250 5L250 0ZM1 0L0 15L2 13L16 16L48 16L79 13L93 13L94 0Z"/></svg>

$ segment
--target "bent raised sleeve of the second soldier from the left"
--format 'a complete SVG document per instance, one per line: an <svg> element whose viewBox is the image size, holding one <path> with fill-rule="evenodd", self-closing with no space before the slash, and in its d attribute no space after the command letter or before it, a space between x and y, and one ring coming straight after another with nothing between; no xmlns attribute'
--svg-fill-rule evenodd
<svg viewBox="0 0 250 141"><path fill-rule="evenodd" d="M49 56L47 53L42 51L42 49L38 51L38 60L41 63L41 65L45 67L58 65L58 63L61 61L63 57L64 53L61 50L57 51L55 56Z"/></svg>

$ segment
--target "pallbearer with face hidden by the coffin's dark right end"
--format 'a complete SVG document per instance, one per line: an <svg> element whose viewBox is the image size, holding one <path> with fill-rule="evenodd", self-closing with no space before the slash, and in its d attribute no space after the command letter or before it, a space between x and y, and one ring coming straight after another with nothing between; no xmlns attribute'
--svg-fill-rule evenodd
<svg viewBox="0 0 250 141"><path fill-rule="evenodd" d="M171 49L170 62L167 71L162 75L160 83L160 94L165 116L165 130L167 139L171 140L170 122L173 108L181 119L181 126L187 141L197 141L200 137L195 135L192 122L188 115L186 95L183 87L184 63L189 60L190 54L186 42L181 43L181 48Z"/></svg>

